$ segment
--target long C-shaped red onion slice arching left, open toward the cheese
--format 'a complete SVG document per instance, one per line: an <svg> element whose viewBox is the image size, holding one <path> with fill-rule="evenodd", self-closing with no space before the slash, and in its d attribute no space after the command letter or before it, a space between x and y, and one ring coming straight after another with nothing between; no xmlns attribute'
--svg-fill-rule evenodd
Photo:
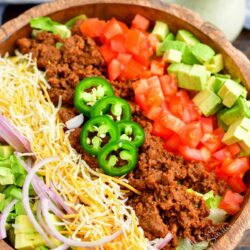
<svg viewBox="0 0 250 250"><path fill-rule="evenodd" d="M55 161L58 161L58 160L59 160L59 157L50 157L50 158L47 158L47 159L44 159L44 160L40 161L37 165L35 165L30 170L30 172L28 173L28 175L27 175L27 177L25 179L25 182L24 182L24 185L23 185L23 192L22 192L23 207L24 207L24 209L26 211L27 216L29 217L30 222L32 223L32 225L34 226L36 231L43 237L46 244L51 248L55 247L54 242L51 241L51 239L48 237L46 232L39 225L39 223L37 222L35 216L32 213L32 210L31 210L31 207L30 207L30 201L29 201L29 186L31 184L32 178L34 178L36 172L40 168L42 168L45 164L55 162Z"/></svg>

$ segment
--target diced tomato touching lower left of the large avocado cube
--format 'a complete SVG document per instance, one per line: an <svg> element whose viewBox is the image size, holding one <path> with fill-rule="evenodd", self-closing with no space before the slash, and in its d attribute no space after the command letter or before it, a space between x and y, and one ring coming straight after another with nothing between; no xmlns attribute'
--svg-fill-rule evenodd
<svg viewBox="0 0 250 250"><path fill-rule="evenodd" d="M163 75L159 77L164 96L171 96L177 92L178 85L175 75Z"/></svg>

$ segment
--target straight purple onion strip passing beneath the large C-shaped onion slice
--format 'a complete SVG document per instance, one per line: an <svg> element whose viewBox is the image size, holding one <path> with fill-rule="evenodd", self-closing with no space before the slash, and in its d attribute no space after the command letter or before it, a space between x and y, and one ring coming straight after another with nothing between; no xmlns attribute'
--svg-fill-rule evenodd
<svg viewBox="0 0 250 250"><path fill-rule="evenodd" d="M15 153L18 161L22 164L22 166L26 169L26 171L29 173L31 171L31 168L28 164L26 164L21 157L19 156L18 153ZM46 197L47 195L50 197L50 199L53 200L53 202L55 202L55 204L60 207L63 208L68 214L73 214L75 213L75 211L73 211L71 208L69 208L65 202L63 201L63 199L57 195L57 193L52 189L52 187L48 187L41 179L39 179L36 175L34 176L34 178L32 179L32 185L36 191L36 193L38 194L38 196L44 197L44 193L46 193ZM50 183L51 185L51 183ZM60 217L57 213L57 216Z"/></svg>

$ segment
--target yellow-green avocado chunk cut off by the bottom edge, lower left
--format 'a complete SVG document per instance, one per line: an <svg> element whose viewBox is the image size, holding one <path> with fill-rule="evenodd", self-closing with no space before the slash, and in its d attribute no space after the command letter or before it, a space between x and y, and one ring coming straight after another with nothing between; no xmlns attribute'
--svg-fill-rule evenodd
<svg viewBox="0 0 250 250"><path fill-rule="evenodd" d="M15 248L20 250L32 250L46 243L39 233L20 233L15 235Z"/></svg>

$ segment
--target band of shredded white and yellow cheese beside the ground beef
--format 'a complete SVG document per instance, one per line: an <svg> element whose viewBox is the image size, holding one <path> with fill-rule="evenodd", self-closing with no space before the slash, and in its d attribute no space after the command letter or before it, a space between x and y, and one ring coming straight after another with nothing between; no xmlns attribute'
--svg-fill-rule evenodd
<svg viewBox="0 0 250 250"><path fill-rule="evenodd" d="M65 203L77 211L65 215L61 233L78 240L97 240L123 228L124 233L100 249L152 249L138 226L134 210L126 205L128 190L137 194L124 178L116 179L91 169L70 145L51 103L43 72L30 55L0 58L0 112L31 142L39 160L59 156L41 174ZM127 188L122 190L120 186Z"/></svg>

